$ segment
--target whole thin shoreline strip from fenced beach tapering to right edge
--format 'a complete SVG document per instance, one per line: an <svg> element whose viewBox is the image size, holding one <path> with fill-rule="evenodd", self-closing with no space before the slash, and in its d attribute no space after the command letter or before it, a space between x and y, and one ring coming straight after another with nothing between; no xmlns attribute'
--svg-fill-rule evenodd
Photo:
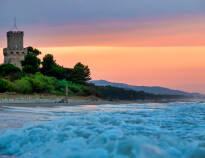
<svg viewBox="0 0 205 158"><path fill-rule="evenodd" d="M160 100L105 100L101 98L68 97L68 103L60 103L65 98L57 95L19 95L19 94L1 94L0 107L56 107L56 106L79 106L79 105L105 105L105 104L148 104L148 103L170 103L170 102L191 102L195 99L160 99ZM196 100L195 100L196 101ZM200 101L200 100L198 100Z"/></svg>

